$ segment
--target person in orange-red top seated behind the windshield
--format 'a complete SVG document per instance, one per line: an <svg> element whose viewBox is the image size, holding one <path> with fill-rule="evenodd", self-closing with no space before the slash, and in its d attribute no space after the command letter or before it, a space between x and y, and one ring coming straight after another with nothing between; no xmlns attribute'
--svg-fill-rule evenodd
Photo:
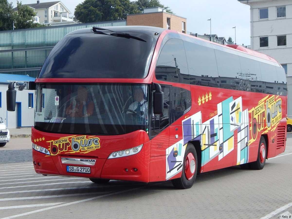
<svg viewBox="0 0 292 219"><path fill-rule="evenodd" d="M93 113L93 101L89 101L87 90L84 86L79 86L77 98L73 99L70 106L66 109L69 117L88 117Z"/></svg>

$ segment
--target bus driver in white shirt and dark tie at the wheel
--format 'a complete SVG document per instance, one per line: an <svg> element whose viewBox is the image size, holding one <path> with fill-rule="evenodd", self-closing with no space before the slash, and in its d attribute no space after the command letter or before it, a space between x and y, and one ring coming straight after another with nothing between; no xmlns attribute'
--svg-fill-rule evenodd
<svg viewBox="0 0 292 219"><path fill-rule="evenodd" d="M134 102L129 106L129 110L135 111L138 123L146 124L148 119L148 102L144 99L144 91L142 88L136 88L134 90ZM127 111L131 113L131 111Z"/></svg>

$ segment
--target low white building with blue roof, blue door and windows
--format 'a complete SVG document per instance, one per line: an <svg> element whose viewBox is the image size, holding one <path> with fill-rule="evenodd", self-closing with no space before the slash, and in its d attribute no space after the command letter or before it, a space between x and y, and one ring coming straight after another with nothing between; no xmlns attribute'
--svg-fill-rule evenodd
<svg viewBox="0 0 292 219"><path fill-rule="evenodd" d="M0 74L0 117L8 128L29 127L34 124L34 90L16 92L15 111L7 111L6 91L11 81L34 81L26 75Z"/></svg>

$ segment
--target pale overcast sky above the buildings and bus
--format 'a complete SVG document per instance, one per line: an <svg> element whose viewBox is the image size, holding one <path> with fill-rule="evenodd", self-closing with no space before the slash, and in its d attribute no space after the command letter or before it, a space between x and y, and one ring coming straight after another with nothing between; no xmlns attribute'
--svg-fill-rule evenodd
<svg viewBox="0 0 292 219"><path fill-rule="evenodd" d="M52 0L56 1L56 0ZM132 0L130 0L132 1ZM16 0L8 0L16 7ZM22 4L36 3L36 0L22 0ZM49 0L40 0L49 2ZM61 0L74 15L75 7L81 0ZM237 0L160 0L169 6L175 15L187 18L187 31L201 35L217 34L219 37L232 37L236 44L250 45L250 7ZM236 27L235 29L232 27Z"/></svg>

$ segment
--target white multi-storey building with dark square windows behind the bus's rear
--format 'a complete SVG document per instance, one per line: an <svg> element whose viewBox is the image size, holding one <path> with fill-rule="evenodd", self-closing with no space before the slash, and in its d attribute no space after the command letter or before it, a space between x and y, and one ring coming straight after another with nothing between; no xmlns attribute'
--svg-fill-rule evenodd
<svg viewBox="0 0 292 219"><path fill-rule="evenodd" d="M238 1L251 7L251 49L272 56L286 71L292 117L292 0Z"/></svg>

